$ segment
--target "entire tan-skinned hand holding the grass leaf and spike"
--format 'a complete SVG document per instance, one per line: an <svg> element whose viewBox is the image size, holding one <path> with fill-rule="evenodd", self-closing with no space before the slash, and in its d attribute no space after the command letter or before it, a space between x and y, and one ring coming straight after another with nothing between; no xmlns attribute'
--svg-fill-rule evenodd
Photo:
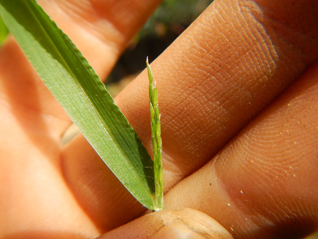
<svg viewBox="0 0 318 239"><path fill-rule="evenodd" d="M159 1L39 4L105 78ZM0 51L1 238L317 230L316 12L314 0L216 0L152 63L166 193L165 210L146 216L81 135L60 146L72 122L9 37ZM143 71L115 102L150 152L147 81Z"/></svg>

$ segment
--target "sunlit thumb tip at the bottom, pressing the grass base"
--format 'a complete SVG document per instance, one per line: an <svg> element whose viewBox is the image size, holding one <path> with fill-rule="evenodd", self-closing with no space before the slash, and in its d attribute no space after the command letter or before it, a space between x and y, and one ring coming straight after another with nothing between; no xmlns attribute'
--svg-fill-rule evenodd
<svg viewBox="0 0 318 239"><path fill-rule="evenodd" d="M148 214L98 237L102 238L233 238L217 221L192 210L169 210Z"/></svg>

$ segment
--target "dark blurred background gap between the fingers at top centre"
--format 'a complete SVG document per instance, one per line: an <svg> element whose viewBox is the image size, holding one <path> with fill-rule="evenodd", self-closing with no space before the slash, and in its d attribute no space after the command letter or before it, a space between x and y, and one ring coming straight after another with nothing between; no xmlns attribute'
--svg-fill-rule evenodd
<svg viewBox="0 0 318 239"><path fill-rule="evenodd" d="M213 0L163 0L108 76L106 84L138 74L160 55Z"/></svg>

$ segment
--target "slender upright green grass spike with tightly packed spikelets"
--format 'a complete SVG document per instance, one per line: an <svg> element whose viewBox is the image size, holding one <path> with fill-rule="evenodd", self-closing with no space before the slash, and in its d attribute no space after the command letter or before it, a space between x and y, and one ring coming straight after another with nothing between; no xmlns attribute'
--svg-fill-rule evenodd
<svg viewBox="0 0 318 239"><path fill-rule="evenodd" d="M156 81L148 62L146 60L148 78L149 78L149 105L150 105L150 122L151 122L151 140L152 151L154 155L154 175L155 175L155 198L154 210L160 211L163 209L163 190L162 190L162 140L160 129L160 114L158 106L158 94Z"/></svg>

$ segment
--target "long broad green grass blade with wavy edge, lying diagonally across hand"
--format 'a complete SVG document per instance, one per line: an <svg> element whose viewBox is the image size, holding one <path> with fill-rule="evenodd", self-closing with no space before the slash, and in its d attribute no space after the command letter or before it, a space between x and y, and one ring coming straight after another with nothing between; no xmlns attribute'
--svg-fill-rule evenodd
<svg viewBox="0 0 318 239"><path fill-rule="evenodd" d="M153 209L153 162L79 50L33 0L0 0L0 15L102 160L138 201Z"/></svg>

